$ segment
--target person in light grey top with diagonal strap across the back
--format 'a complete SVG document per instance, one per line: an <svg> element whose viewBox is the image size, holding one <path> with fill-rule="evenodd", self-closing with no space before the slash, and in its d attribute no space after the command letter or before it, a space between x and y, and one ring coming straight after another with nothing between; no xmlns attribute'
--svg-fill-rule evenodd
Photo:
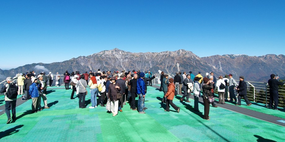
<svg viewBox="0 0 285 142"><path fill-rule="evenodd" d="M76 76L76 75L74 75ZM78 89L78 96L79 96L79 108L86 108L85 106L85 96L86 96L86 87L87 83L85 81L84 75L81 76L81 79L77 81L77 89Z"/></svg>

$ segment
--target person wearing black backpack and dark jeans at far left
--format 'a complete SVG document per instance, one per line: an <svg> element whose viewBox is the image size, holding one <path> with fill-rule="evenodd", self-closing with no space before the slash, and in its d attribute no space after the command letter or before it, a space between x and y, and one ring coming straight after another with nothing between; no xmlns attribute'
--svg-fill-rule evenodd
<svg viewBox="0 0 285 142"><path fill-rule="evenodd" d="M13 119L16 121L16 101L18 95L18 85L13 82L11 77L6 78L7 84L1 89L0 93L5 93L5 111L8 117L7 124ZM12 119L10 110L12 110Z"/></svg>

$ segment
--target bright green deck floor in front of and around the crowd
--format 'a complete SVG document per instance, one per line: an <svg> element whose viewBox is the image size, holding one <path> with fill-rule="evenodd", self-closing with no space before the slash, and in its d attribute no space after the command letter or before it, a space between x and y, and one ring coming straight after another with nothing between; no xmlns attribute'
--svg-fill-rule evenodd
<svg viewBox="0 0 285 142"><path fill-rule="evenodd" d="M53 88L58 87L48 89ZM211 120L204 120L204 106L199 103L200 112L195 112L194 100L181 103L174 98L180 113L171 107L173 111L165 112L159 100L163 93L153 87L147 90L146 114L127 104L115 117L105 107L89 109L90 94L87 108L78 108L78 98L70 100L71 91L49 90L50 109L34 114L28 100L16 108L15 123L6 124L6 114L1 115L0 141L285 141L285 127L221 107L210 107Z"/></svg>

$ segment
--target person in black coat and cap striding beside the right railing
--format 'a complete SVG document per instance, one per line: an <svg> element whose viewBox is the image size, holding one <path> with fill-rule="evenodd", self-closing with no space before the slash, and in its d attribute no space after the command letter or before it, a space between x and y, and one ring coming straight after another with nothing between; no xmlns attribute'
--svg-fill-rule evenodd
<svg viewBox="0 0 285 142"><path fill-rule="evenodd" d="M252 105L252 103L248 100L248 97L246 96L247 95L247 84L244 81L244 77L243 76L239 77L239 85L236 88L236 90L238 90L238 94L239 94L239 96L238 96L239 101L238 101L237 104L235 104L236 106L240 106L241 105L241 97L243 97L243 99L246 102L247 106Z"/></svg>

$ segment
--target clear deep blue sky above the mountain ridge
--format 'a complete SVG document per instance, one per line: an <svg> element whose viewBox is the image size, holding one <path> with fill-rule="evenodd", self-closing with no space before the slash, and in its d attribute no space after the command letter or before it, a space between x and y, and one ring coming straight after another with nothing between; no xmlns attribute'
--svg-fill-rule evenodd
<svg viewBox="0 0 285 142"><path fill-rule="evenodd" d="M1 1L0 69L114 48L185 49L200 57L285 54L284 7L284 0ZM7 54L13 61L5 61Z"/></svg>

